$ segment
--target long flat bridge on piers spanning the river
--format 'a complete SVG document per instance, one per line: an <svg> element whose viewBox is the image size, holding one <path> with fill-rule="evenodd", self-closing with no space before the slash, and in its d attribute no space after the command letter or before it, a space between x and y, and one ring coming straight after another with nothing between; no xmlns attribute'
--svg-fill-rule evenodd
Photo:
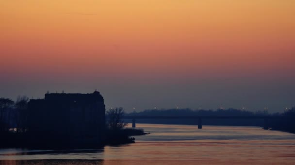
<svg viewBox="0 0 295 165"><path fill-rule="evenodd" d="M263 129L268 129L268 119L289 119L287 116L123 116L132 119L132 127L136 127L136 119L196 119L197 128L202 129L202 119L262 119Z"/></svg>

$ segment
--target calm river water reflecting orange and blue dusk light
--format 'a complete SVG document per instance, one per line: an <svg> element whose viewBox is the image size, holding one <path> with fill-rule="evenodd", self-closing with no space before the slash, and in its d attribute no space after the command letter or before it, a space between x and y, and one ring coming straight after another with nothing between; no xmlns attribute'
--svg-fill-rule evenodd
<svg viewBox="0 0 295 165"><path fill-rule="evenodd" d="M260 127L136 126L151 134L99 150L0 149L0 165L295 165L295 134Z"/></svg>

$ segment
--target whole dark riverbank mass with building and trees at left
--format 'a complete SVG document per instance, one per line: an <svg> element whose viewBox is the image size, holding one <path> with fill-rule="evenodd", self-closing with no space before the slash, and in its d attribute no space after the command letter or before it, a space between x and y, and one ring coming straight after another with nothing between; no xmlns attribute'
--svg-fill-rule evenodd
<svg viewBox="0 0 295 165"><path fill-rule="evenodd" d="M145 135L142 129L125 128L123 108L106 113L98 91L47 93L44 99L31 100L19 97L16 104L1 98L1 102L0 147L97 148L134 143L131 136Z"/></svg>

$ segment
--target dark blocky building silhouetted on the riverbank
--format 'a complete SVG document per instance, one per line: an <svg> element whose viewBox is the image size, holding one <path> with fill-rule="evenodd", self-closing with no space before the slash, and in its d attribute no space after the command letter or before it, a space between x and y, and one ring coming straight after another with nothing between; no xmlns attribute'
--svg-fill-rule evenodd
<svg viewBox="0 0 295 165"><path fill-rule="evenodd" d="M104 138L105 105L99 92L45 94L28 104L31 140L69 145L100 143Z"/></svg>

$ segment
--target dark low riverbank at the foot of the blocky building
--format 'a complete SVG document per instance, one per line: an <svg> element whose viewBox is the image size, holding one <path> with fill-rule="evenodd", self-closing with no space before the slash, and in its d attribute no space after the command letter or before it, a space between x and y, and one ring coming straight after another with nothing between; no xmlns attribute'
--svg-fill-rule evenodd
<svg viewBox="0 0 295 165"><path fill-rule="evenodd" d="M122 145L135 143L132 136L147 135L143 129L124 128L120 130L106 129L101 139L85 138L80 141L75 139L35 139L29 133L2 132L0 148L30 148L30 149L84 149L101 148L106 145Z"/></svg>

